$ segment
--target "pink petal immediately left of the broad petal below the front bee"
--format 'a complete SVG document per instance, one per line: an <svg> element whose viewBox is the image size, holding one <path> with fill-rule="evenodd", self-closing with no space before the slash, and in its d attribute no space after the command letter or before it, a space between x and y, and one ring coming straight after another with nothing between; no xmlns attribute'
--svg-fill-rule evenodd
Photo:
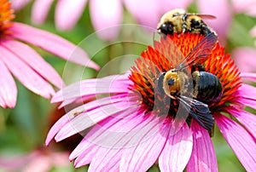
<svg viewBox="0 0 256 172"><path fill-rule="evenodd" d="M138 138L137 145L125 149L121 158L120 170L148 170L159 158L160 152L166 144L166 139L171 128L170 124L155 123L152 129L149 128L148 132L142 138Z"/></svg>

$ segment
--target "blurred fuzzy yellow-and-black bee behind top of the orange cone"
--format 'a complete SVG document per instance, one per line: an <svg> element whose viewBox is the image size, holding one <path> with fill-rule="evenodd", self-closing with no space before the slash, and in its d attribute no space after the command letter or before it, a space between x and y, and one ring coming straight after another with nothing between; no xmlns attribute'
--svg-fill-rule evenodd
<svg viewBox="0 0 256 172"><path fill-rule="evenodd" d="M183 9L173 9L161 17L157 30L164 36L184 32L200 33L207 36L214 31L202 19L215 18L215 16L210 14L189 14Z"/></svg>

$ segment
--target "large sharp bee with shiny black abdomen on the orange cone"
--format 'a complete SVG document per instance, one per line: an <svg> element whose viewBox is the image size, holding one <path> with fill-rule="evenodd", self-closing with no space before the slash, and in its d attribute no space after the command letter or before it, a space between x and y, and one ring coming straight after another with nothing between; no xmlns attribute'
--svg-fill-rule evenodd
<svg viewBox="0 0 256 172"><path fill-rule="evenodd" d="M198 62L211 53L217 41L218 37L214 33L208 34L177 66L160 73L156 80L158 93L168 95L171 100L178 100L190 117L207 130L211 130L214 125L207 103L218 101L223 94L223 88L218 77L205 72ZM170 108L171 106L172 104Z"/></svg>

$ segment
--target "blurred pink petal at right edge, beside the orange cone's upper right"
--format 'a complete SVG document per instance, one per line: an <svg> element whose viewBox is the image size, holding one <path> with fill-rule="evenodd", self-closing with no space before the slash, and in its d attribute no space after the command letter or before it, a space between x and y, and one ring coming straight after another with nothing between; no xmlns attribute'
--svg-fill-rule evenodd
<svg viewBox="0 0 256 172"><path fill-rule="evenodd" d="M241 72L256 72L256 49L241 47L235 49L232 54Z"/></svg>

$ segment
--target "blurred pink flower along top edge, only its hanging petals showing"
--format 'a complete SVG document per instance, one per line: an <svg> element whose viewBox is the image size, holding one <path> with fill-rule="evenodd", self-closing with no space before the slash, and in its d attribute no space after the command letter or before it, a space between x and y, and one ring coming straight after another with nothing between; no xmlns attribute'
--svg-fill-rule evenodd
<svg viewBox="0 0 256 172"><path fill-rule="evenodd" d="M16 9L21 9L28 1L13 0ZM178 3L164 0L93 0L89 2L90 18L96 32L112 27L106 32L97 32L99 37L112 40L119 34L122 22L123 4L139 24L156 28L160 16L175 8L186 9L193 0L182 0ZM41 25L49 13L53 0L35 0L32 5L32 22ZM84 12L88 0L58 0L55 8L55 26L59 30L70 30ZM19 6L20 5L20 6ZM116 27L113 27L116 26Z"/></svg>

